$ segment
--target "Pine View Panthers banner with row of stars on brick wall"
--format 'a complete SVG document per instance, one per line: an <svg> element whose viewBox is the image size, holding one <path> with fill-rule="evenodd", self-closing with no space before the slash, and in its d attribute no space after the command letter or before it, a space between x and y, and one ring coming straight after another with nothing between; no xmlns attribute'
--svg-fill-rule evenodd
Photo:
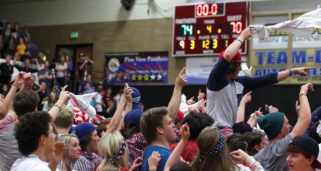
<svg viewBox="0 0 321 171"><path fill-rule="evenodd" d="M167 83L168 51L106 53L108 83Z"/></svg>

